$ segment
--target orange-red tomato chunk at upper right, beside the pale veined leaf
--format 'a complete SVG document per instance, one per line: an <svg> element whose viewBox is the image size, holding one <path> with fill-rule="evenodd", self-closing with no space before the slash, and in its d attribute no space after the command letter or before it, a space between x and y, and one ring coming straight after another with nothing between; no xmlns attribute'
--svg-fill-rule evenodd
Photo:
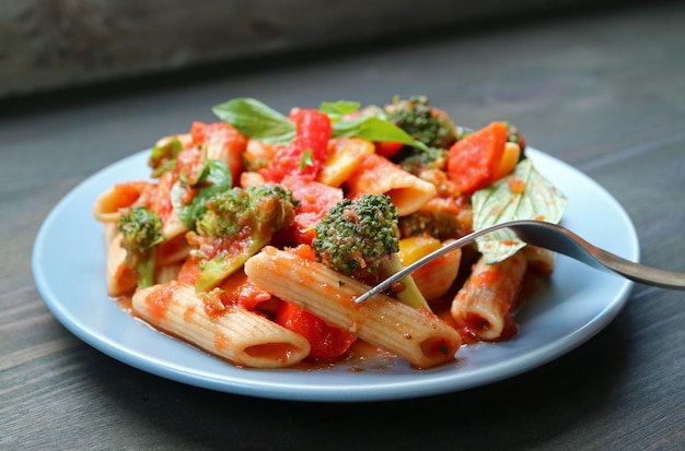
<svg viewBox="0 0 685 451"><path fill-rule="evenodd" d="M495 181L507 144L507 124L491 122L450 147L448 176L456 189L472 193Z"/></svg>

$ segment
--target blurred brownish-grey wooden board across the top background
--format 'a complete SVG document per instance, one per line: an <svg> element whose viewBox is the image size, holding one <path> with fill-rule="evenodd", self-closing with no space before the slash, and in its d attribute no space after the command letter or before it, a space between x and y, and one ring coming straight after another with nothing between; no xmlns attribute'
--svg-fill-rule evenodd
<svg viewBox="0 0 685 451"><path fill-rule="evenodd" d="M405 39L612 0L22 0L0 8L0 97L275 52ZM623 2L625 3L625 1Z"/></svg>

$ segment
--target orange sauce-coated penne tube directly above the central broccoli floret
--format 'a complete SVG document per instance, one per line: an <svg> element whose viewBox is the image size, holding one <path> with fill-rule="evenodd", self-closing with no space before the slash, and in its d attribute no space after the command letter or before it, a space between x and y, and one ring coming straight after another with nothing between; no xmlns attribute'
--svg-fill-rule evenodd
<svg viewBox="0 0 685 451"><path fill-rule="evenodd" d="M437 192L433 183L407 173L376 154L367 155L359 162L346 186L350 198L364 193L388 195L397 206L399 216L416 212Z"/></svg>

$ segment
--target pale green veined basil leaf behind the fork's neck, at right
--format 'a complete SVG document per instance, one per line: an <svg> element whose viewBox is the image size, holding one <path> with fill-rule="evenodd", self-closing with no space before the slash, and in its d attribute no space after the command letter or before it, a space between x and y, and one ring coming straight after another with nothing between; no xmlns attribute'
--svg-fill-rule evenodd
<svg viewBox="0 0 685 451"><path fill-rule="evenodd" d="M514 192L511 190L512 186L523 189L515 189ZM529 158L524 158L516 165L512 175L474 192L471 202L474 230L479 230L513 219L558 223L561 221L567 199L535 169ZM525 246L525 242L509 229L492 232L477 238L476 242L487 263L506 260Z"/></svg>

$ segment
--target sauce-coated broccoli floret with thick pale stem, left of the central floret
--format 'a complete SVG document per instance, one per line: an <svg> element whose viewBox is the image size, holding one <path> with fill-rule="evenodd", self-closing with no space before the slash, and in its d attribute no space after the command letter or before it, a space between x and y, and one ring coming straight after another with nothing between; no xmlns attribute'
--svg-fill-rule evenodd
<svg viewBox="0 0 685 451"><path fill-rule="evenodd" d="M213 288L268 245L274 234L293 224L298 201L280 185L232 188L207 200L188 240L200 274L195 288Z"/></svg>

